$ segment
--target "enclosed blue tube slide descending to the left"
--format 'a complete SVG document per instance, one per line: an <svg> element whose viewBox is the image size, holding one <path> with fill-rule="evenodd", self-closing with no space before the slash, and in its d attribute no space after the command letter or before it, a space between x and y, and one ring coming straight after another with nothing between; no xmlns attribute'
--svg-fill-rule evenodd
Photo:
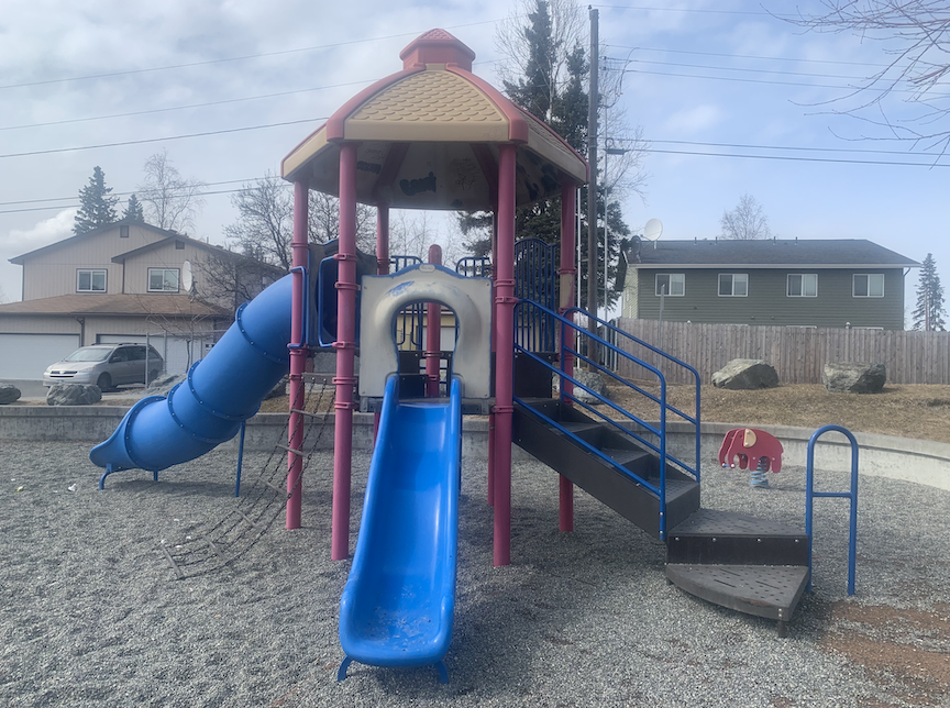
<svg viewBox="0 0 950 708"><path fill-rule="evenodd" d="M290 275L238 310L234 324L168 397L140 400L89 453L106 467L161 469L195 460L231 440L290 368Z"/></svg>

